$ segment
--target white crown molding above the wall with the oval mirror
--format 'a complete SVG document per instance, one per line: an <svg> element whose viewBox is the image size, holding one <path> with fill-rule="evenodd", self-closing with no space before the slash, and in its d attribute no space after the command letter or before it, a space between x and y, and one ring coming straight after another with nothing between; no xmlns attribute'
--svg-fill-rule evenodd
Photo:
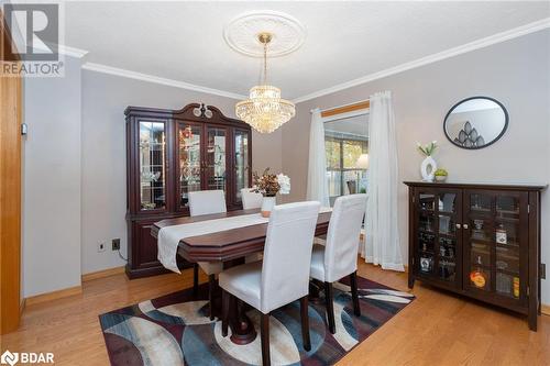
<svg viewBox="0 0 550 366"><path fill-rule="evenodd" d="M344 89L348 89L351 87L355 87L355 86L359 86L359 85L362 85L362 84L365 84L369 81L373 81L376 79L382 79L382 78L385 78L385 77L391 76L391 75L399 74L399 73L403 73L406 70L410 70L413 68L417 68L417 67L432 64L432 63L436 63L436 62L439 62L439 60L442 60L446 58L450 58L450 57L465 54L465 53L469 53L469 52L472 52L475 49L487 47L487 46L491 46L491 45L494 45L494 44L497 44L501 42L505 42L508 40L513 40L513 38L529 34L529 33L535 33L535 32L538 32L538 31L541 31L541 30L544 30L548 27L550 27L550 18L546 18L546 19L542 19L540 21L532 22L532 23L529 23L526 25L521 25L521 26L512 29L509 31L496 33L496 34L491 35L488 37L480 38L477 41L473 41L473 42L463 44L463 45L458 46L458 47L453 47L453 48L450 48L450 49L447 49L443 52L439 52L437 54L432 54L432 55L429 55L426 57L415 59L415 60L409 62L409 63L405 63L405 64L402 64L402 65L398 65L395 67L391 67L391 68L387 68L385 70L378 71L378 73L370 74L370 75L363 76L363 77L358 78L358 79L353 79L353 80L350 80L346 82L338 84L338 85L332 86L330 88L321 89L319 91L316 91L316 92L312 92L312 93L309 93L309 95L306 95L302 97L298 97L298 98L294 99L293 102L301 103L301 102L305 102L307 100L311 100L311 99L315 99L318 97L327 96L327 95L330 95L330 93L333 93L333 92L337 92L340 90L344 90Z"/></svg>

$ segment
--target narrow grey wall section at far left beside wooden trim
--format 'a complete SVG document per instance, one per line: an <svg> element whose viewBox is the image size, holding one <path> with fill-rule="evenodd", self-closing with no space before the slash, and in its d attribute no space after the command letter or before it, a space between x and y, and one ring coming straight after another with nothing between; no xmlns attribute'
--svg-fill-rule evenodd
<svg viewBox="0 0 550 366"><path fill-rule="evenodd" d="M80 59L65 77L26 78L23 293L80 285Z"/></svg>

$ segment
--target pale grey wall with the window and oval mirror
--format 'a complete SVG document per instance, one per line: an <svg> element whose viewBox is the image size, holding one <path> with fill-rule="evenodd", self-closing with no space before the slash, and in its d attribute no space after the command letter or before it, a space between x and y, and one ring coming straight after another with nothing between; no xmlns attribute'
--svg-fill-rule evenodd
<svg viewBox="0 0 550 366"><path fill-rule="evenodd" d="M435 155L449 179L461 182L550 182L550 30L477 49L298 104L283 126L283 168L293 179L288 200L306 197L309 111L367 99L392 90L397 127L399 180L419 180L422 156L416 142L437 140ZM458 101L488 96L509 113L506 134L494 145L466 151L443 133L443 118ZM402 253L408 255L408 196L398 191ZM542 196L542 262L550 264L550 192ZM550 273L548 274L550 276ZM550 280L542 280L550 304Z"/></svg>

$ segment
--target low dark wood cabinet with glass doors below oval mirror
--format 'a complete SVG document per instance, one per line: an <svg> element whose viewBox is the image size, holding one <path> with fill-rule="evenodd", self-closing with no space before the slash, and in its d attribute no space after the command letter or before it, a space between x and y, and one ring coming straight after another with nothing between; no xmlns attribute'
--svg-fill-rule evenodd
<svg viewBox="0 0 550 366"><path fill-rule="evenodd" d="M415 280L528 317L540 313L540 193L546 186L405 181Z"/></svg>

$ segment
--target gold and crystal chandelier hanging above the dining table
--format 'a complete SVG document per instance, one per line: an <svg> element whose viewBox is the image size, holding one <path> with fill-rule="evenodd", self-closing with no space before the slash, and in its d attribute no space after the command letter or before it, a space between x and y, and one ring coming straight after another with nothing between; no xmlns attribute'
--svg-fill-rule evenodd
<svg viewBox="0 0 550 366"><path fill-rule="evenodd" d="M272 35L270 33L261 33L257 40L264 45L263 82L250 89L249 99L237 103L235 114L257 132L272 133L296 114L296 108L293 102L280 99L279 88L266 82L267 44L272 41Z"/></svg>

